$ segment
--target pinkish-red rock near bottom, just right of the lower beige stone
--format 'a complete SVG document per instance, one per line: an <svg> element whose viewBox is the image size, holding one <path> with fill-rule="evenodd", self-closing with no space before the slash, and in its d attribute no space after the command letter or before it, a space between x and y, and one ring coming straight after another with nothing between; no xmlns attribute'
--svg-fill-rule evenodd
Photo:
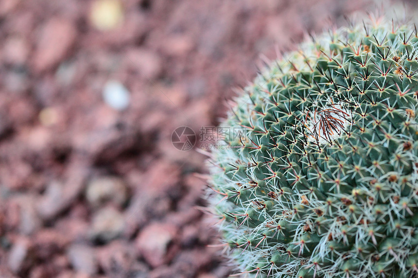
<svg viewBox="0 0 418 278"><path fill-rule="evenodd" d="M167 223L152 223L145 227L136 240L140 255L152 266L157 267L168 261L168 245L174 241L177 228Z"/></svg>

